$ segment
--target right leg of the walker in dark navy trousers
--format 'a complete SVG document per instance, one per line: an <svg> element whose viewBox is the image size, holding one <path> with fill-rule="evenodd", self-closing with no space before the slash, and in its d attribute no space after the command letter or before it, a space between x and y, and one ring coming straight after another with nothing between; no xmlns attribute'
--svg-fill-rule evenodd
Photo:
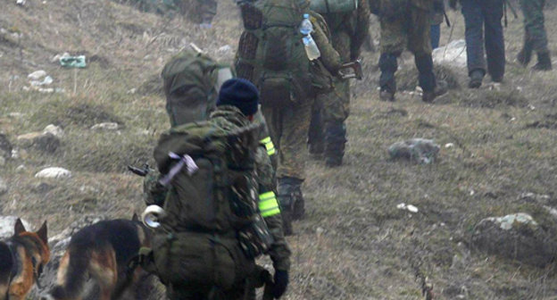
<svg viewBox="0 0 557 300"><path fill-rule="evenodd" d="M503 1L484 0L483 12L486 22L487 72L495 82L503 81L505 53L503 39Z"/></svg>

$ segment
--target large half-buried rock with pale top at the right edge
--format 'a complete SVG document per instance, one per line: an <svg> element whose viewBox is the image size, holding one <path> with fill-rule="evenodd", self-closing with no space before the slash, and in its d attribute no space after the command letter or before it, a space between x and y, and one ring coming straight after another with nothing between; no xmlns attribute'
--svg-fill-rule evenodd
<svg viewBox="0 0 557 300"><path fill-rule="evenodd" d="M553 262L557 249L554 237L523 212L479 221L472 244L489 254L538 267Z"/></svg>

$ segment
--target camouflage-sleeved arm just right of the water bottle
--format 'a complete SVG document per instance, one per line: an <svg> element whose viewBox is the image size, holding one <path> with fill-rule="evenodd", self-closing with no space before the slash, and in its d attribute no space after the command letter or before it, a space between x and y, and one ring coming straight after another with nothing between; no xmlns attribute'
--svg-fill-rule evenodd
<svg viewBox="0 0 557 300"><path fill-rule="evenodd" d="M340 54L338 54L337 50L333 47L330 43L330 39L328 37L328 28L326 27L326 23L323 21L321 23L317 18L314 17L312 14L312 24L313 24L313 32L312 37L315 40L315 44L320 49L321 52L321 63L325 66L325 68L331 74L337 74L338 70L342 66L343 62L340 58Z"/></svg>

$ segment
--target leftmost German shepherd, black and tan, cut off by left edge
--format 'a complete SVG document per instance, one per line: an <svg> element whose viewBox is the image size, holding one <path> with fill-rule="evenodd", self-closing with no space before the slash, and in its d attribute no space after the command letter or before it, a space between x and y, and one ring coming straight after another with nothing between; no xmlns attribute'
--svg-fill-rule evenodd
<svg viewBox="0 0 557 300"><path fill-rule="evenodd" d="M29 232L20 219L13 236L0 242L0 300L24 300L50 260L46 221Z"/></svg>

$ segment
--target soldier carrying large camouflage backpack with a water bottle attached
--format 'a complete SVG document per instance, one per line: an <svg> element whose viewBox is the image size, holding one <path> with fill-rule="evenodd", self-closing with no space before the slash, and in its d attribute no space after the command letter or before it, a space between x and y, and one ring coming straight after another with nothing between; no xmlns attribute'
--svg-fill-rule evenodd
<svg viewBox="0 0 557 300"><path fill-rule="evenodd" d="M312 64L303 50L303 35L297 30L303 14L310 12L309 1L260 0L242 4L241 9L245 32L238 46L236 70L238 77L253 81L262 93L262 112L278 150L278 199L285 233L289 234L290 221L304 215L304 149L314 100ZM340 57L317 18L320 16L311 17L312 37L320 48L320 63L336 74ZM275 26L264 26L267 22ZM273 35L278 37L268 38Z"/></svg>

